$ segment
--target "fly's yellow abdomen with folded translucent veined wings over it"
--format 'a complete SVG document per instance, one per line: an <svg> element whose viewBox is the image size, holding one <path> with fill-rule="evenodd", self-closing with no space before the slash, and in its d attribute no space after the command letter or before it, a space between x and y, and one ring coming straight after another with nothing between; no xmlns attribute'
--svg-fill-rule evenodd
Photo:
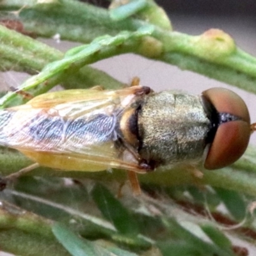
<svg viewBox="0 0 256 256"><path fill-rule="evenodd" d="M124 159L118 120L141 86L117 91L69 90L46 93L0 112L0 143L36 162L65 170L142 172L138 159ZM137 170L138 169L138 170Z"/></svg>

